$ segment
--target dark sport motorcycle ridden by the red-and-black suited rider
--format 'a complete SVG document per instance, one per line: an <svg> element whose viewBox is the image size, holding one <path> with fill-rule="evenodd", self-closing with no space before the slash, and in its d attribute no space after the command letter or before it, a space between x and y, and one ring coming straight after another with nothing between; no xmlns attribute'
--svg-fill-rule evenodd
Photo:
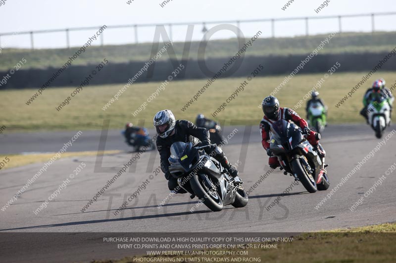
<svg viewBox="0 0 396 263"><path fill-rule="evenodd" d="M319 140L320 134L316 136ZM274 122L270 149L278 157L284 174L294 176L308 192L329 188L325 158L321 159L312 149L296 124L283 119Z"/></svg>

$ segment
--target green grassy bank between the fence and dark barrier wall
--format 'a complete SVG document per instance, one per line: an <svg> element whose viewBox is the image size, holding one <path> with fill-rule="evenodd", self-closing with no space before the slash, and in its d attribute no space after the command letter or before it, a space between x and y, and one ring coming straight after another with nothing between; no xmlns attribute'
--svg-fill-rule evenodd
<svg viewBox="0 0 396 263"><path fill-rule="evenodd" d="M309 54L315 49L327 35L301 36L295 38L259 38L252 47L247 50L248 56ZM247 36L248 37L248 36ZM248 38L249 39L249 38ZM343 33L331 39L331 43L321 50L321 54L367 53L389 52L395 48L395 32L371 33ZM197 59L199 42L191 43L189 57ZM129 61L148 61L151 53L151 43L90 46L73 62L73 65L98 64L107 58L113 63L125 63ZM28 68L58 68L64 65L69 56L72 56L79 47L70 49L3 49L1 50L0 71L11 69L22 58L27 60L23 69ZM184 43L175 42L173 45L177 58L180 60L183 53ZM238 51L236 39L209 41L205 50L206 57L230 57ZM155 53L157 51L155 50ZM162 59L168 59L168 54Z"/></svg>

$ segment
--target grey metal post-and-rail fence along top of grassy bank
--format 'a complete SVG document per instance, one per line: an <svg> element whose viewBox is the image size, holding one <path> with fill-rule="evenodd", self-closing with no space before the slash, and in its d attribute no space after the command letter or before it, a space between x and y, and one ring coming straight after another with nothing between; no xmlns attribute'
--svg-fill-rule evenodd
<svg viewBox="0 0 396 263"><path fill-rule="evenodd" d="M280 21L305 21L305 35L309 36L309 21L317 20L317 19L335 19L338 23L338 31L342 33L343 31L343 18L356 18L356 17L371 17L371 32L375 32L375 17L376 16L388 16L388 15L396 15L396 12L382 12L382 13L366 13L366 14L352 14L352 15L333 15L333 16L311 16L311 17L290 17L290 18L273 18L273 19L250 19L250 20L226 20L226 21L207 21L207 22L183 22L183 23L167 23L167 24L130 24L130 25L113 25L107 26L106 31L109 29L121 29L121 28L131 28L134 29L134 37L135 43L139 43L139 29L140 28L148 28L148 27L156 27L156 26L166 26L168 27L168 33L170 40L172 40L172 27L174 26L188 26L188 25L202 25L202 32L204 33L206 30L207 24L235 24L238 28L240 28L242 23L261 23L261 22L270 22L271 24L271 37L275 38L275 23ZM18 33L0 33L0 45L1 45L1 37L3 36L11 36L11 35L30 35L30 48L34 49L34 35L36 34L49 34L49 33L65 33L65 46L70 48L70 35L69 33L72 31L83 31L83 30L93 30L98 29L98 27L80 27L80 28L66 28L66 29L53 29L53 30L37 30L37 31L24 31ZM396 29L395 29L396 30ZM103 33L100 35L100 45L104 44Z"/></svg>

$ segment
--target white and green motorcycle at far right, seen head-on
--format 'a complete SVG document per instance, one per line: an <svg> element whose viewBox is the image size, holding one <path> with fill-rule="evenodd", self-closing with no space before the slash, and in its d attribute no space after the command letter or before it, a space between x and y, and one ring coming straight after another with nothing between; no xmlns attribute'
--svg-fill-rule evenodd
<svg viewBox="0 0 396 263"><path fill-rule="evenodd" d="M383 131L391 124L391 107L386 99L377 98L367 107L367 117L377 138L382 137Z"/></svg>

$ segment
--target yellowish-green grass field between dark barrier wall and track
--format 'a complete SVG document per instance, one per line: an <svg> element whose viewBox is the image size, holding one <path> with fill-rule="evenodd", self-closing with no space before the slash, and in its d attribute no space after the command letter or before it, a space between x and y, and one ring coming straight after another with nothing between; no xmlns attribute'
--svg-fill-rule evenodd
<svg viewBox="0 0 396 263"><path fill-rule="evenodd" d="M342 65L341 65L342 67ZM363 123L363 117L359 115L362 107L362 96L366 88L376 78L383 77L389 86L396 82L395 72L383 72L372 75L363 88L356 91L352 98L348 99L340 108L335 105L347 95L347 92L361 80L366 73L335 73L318 89L321 97L329 107L329 123ZM215 119L239 120L233 124L257 125L262 118L259 104L263 98L271 93L283 80L285 75L256 77L253 78L241 91L235 100L231 101L225 110L219 113ZM293 108L302 97L308 93L313 85L323 77L323 74L296 75L293 77L276 96L281 106ZM206 83L205 79L171 81L160 91L157 98L148 103L136 117L132 112L136 111L147 98L157 90L160 82L148 82L133 84L115 101L106 111L102 110L106 104L121 89L123 84L88 86L66 105L61 111L55 107L70 96L75 87L49 88L38 97L31 105L25 102L37 92L37 89L3 90L0 91L0 126L6 126L3 133L13 131L38 131L38 130L95 130L101 129L103 119L110 119L110 128L122 129L125 122L139 123L152 127L153 115L162 109L170 109L178 119L194 120L197 113L203 113L208 117L216 111L218 106L237 89L245 78L225 78L216 80L193 105L186 111L181 108L193 97L196 92ZM297 110L305 117L304 106ZM395 116L393 118L395 121Z"/></svg>

